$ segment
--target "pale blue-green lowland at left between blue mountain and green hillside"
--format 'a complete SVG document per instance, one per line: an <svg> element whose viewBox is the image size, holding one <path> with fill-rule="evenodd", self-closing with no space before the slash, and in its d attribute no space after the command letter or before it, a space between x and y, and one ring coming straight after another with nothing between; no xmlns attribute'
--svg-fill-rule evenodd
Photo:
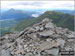
<svg viewBox="0 0 75 56"><path fill-rule="evenodd" d="M32 19L33 17L30 17L30 19ZM19 18L19 19L11 19L11 20L2 20L0 21L0 36L7 34L7 33L11 33L11 29L18 24L20 21L24 20L24 19L28 19L28 18Z"/></svg>

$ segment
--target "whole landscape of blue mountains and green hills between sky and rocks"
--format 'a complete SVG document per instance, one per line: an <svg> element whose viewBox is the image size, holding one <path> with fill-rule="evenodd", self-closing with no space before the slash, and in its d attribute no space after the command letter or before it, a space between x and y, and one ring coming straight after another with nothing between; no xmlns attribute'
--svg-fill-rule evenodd
<svg viewBox="0 0 75 56"><path fill-rule="evenodd" d="M58 10L57 10L58 11ZM57 26L68 28L69 30L74 31L74 15L68 14L70 13L62 13L57 11L46 11L41 14L37 12L25 12L21 10L14 10L10 9L9 11L6 11L1 15L1 19L4 21L1 21L1 34L4 35L7 33L12 33L14 31L21 31L25 29L26 27L32 26L35 23L40 22L43 20L43 18L50 18L53 20L53 23L55 23ZM31 16L34 14L34 17ZM39 15L38 17L36 17ZM7 18L9 20L7 20Z"/></svg>

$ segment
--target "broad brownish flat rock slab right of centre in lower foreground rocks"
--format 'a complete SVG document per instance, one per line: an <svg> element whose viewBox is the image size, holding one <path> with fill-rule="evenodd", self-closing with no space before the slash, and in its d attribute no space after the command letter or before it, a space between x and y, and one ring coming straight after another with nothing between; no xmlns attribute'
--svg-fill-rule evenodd
<svg viewBox="0 0 75 56"><path fill-rule="evenodd" d="M50 49L52 47L58 47L59 44L55 41L46 41L40 44L39 49L41 51L46 50L46 49Z"/></svg>

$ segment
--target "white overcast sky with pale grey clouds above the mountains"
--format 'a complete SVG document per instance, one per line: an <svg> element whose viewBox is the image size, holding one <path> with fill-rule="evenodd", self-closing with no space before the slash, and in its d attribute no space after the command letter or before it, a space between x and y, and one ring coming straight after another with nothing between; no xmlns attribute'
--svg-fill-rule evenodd
<svg viewBox="0 0 75 56"><path fill-rule="evenodd" d="M74 10L74 1L1 1L1 9L66 9Z"/></svg>

